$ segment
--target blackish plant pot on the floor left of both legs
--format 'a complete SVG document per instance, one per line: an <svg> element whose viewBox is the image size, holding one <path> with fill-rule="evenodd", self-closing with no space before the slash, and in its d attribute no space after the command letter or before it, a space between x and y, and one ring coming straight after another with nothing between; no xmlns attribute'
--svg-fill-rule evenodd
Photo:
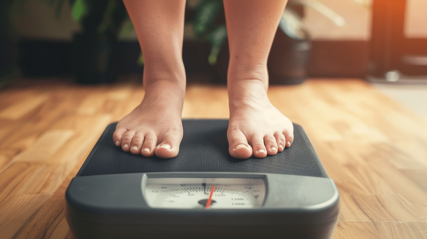
<svg viewBox="0 0 427 239"><path fill-rule="evenodd" d="M76 81L101 84L117 79L117 41L113 36L81 34L75 36Z"/></svg>

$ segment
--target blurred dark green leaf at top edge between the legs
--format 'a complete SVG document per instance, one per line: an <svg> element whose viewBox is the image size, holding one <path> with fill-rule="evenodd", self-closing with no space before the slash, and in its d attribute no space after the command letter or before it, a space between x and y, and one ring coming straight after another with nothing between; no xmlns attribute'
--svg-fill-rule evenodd
<svg viewBox="0 0 427 239"><path fill-rule="evenodd" d="M221 1L218 0L205 0L199 3L194 14L194 33L196 37L201 38L208 32L220 8Z"/></svg>

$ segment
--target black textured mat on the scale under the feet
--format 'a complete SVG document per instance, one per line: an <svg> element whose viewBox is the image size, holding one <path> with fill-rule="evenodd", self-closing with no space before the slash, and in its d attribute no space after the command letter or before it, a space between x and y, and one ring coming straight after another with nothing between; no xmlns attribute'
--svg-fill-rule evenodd
<svg viewBox="0 0 427 239"><path fill-rule="evenodd" d="M257 172L327 178L305 140L301 126L294 124L292 145L265 158L235 159L228 154L228 120L184 119L184 137L178 156L156 156L123 152L113 143L116 124L108 125L89 154L78 176L131 172ZM303 136L304 135L304 136ZM306 136L305 136L306 137Z"/></svg>

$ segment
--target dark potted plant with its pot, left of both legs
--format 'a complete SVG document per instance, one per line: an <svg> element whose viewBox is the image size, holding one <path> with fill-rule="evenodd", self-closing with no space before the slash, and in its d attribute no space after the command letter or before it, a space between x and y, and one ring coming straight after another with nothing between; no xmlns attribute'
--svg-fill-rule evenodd
<svg viewBox="0 0 427 239"><path fill-rule="evenodd" d="M74 38L76 80L114 82L118 73L117 33L127 12L122 0L75 0L72 16L82 32Z"/></svg>

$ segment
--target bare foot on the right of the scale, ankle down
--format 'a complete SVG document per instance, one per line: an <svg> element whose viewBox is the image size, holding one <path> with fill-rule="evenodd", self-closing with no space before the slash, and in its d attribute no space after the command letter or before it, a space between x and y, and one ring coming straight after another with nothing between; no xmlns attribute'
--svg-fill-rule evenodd
<svg viewBox="0 0 427 239"><path fill-rule="evenodd" d="M266 157L292 144L292 122L270 103L262 81L235 81L228 89L227 137L232 157L246 159L252 154Z"/></svg>

